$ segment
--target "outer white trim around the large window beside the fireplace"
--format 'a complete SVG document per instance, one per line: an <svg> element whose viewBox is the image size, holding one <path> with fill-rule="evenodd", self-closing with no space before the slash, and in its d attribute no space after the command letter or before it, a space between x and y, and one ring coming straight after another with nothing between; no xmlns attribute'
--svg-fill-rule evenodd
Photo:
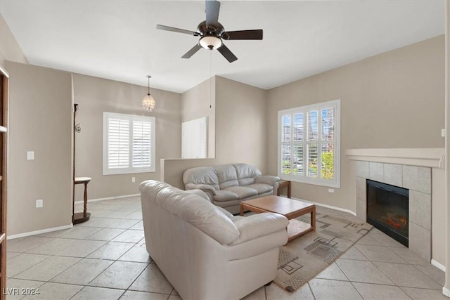
<svg viewBox="0 0 450 300"><path fill-rule="evenodd" d="M281 152L281 117L283 115L287 114L293 114L295 112L307 112L309 110L320 110L326 107L334 107L335 108L335 118L338 119L338 122L335 123L335 141L334 141L334 163L333 163L333 174L334 179L333 181L323 178L311 178L307 176L297 176L297 175L288 175L288 174L281 174L281 160L283 153ZM306 117L306 114L305 114ZM301 107L294 107L290 108L288 110L278 110L278 143L277 143L277 165L278 165L278 177L288 180L288 181L294 181L299 183L308 183L308 184L314 184L314 185L323 185L328 186L330 188L340 188L340 99L337 100L331 100L323 103L315 103L312 105L305 105ZM304 128L304 131L307 131L306 128ZM291 130L291 134L292 134ZM319 137L321 136L321 131L318 133ZM291 139L292 140L292 139ZM319 148L319 147L318 147ZM290 156L291 159L293 159L293 156ZM318 162L319 164L319 162ZM292 161L291 161L292 165ZM306 170L307 166L305 166ZM318 172L319 173L319 172Z"/></svg>

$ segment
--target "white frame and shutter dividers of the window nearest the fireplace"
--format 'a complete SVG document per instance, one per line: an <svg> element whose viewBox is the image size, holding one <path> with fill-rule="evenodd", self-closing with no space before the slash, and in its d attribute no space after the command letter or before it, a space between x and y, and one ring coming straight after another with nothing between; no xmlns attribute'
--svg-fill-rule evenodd
<svg viewBox="0 0 450 300"><path fill-rule="evenodd" d="M304 145L303 148L303 169L304 172L307 171L307 164L304 162L307 162L307 145L310 143L307 140L307 114L311 110L317 110L318 111L318 133L317 133L317 152L318 152L318 159L317 159L317 165L321 166L321 155L319 155L319 150L321 153L321 147L322 145L325 145L328 143L328 141L322 141L322 124L321 124L321 110L326 108L334 108L335 109L335 128L334 128L334 139L333 139L333 180L320 178L318 176L317 178L308 177L306 174L300 175L293 175L293 174L283 174L282 172L282 161L283 161L283 141L282 141L282 129L283 129L283 116L284 115L290 115L290 168L293 167L293 145L299 144L298 141L293 141L293 122L294 122L294 115L303 113L303 141L301 142L302 145ZM331 100L326 101L323 103L314 103L311 105L304 105L300 107L293 107L286 110L278 110L278 143L277 143L277 166L278 166L278 177L293 181L293 182L299 182L299 183L308 183L313 185L323 185L328 186L330 188L340 188L340 122L341 122L341 114L340 114L340 99L337 100ZM321 171L320 169L317 170L317 174L320 175Z"/></svg>

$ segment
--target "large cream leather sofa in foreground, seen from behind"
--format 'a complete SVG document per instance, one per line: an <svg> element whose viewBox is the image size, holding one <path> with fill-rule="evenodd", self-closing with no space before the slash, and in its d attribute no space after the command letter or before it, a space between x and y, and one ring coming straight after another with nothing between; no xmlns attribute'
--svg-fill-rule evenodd
<svg viewBox="0 0 450 300"><path fill-rule="evenodd" d="M148 254L182 299L240 299L276 277L281 214L233 216L201 190L141 183Z"/></svg>

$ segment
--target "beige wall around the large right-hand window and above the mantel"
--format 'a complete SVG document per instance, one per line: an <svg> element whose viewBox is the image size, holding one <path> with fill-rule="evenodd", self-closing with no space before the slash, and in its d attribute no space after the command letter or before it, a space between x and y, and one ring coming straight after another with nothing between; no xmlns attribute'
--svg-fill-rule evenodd
<svg viewBox="0 0 450 300"><path fill-rule="evenodd" d="M356 211L345 150L442 148L444 36L366 58L269 90L268 167L277 174L278 110L341 100L341 187L292 183L292 195Z"/></svg>

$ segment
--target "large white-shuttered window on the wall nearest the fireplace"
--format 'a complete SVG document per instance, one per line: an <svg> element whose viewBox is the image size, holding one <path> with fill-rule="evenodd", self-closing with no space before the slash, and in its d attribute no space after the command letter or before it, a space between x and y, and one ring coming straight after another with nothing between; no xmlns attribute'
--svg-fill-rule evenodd
<svg viewBox="0 0 450 300"><path fill-rule="evenodd" d="M340 100L278 111L278 176L340 187Z"/></svg>

